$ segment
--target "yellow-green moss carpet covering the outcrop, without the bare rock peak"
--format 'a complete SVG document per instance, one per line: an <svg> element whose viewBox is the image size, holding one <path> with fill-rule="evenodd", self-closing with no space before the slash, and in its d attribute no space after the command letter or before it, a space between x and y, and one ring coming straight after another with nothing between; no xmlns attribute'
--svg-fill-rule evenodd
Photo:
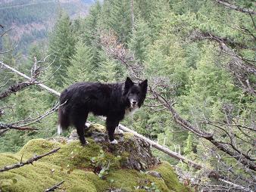
<svg viewBox="0 0 256 192"><path fill-rule="evenodd" d="M134 140L134 137L129 135L129 139ZM0 190L44 191L64 180L61 189L55 191L147 191L146 187L152 189L155 187L160 191L187 191L186 187L178 181L170 164L161 163L151 167L151 170L161 174L161 178L135 169L124 169L122 160L130 156L128 151L124 151L120 161L117 161L117 154L109 150L107 143L97 143L90 138L87 138L87 141L89 145L81 147L79 141L67 143L34 139L23 146L18 153L0 153L0 168L2 168L20 162L21 156L23 161L26 161L35 154L47 153L61 147L57 153L45 156L33 165L0 172ZM123 143L120 142L118 145L122 148ZM99 178L93 172L94 166L91 163L91 158L98 156L102 151L105 153L105 158L111 162L109 174L105 179ZM152 184L154 184L153 187Z"/></svg>

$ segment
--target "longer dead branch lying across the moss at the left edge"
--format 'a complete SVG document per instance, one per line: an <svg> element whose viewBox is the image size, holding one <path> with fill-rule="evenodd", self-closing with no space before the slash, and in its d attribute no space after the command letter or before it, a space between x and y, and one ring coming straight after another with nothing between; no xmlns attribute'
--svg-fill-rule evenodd
<svg viewBox="0 0 256 192"><path fill-rule="evenodd" d="M42 154L42 155L39 155L39 156L37 156L37 155L33 156L25 162L22 162L22 159L20 159L20 163L16 163L16 164L11 165L11 166L5 166L2 169L0 169L0 172L6 172L6 171L11 170L11 169L16 169L16 168L20 168L20 167L25 166L25 165L33 164L33 162L35 162L39 159L42 159L42 157L44 157L44 156L48 156L52 153L56 153L59 149L61 149L61 147L58 147L54 150L51 150L48 153L45 153L45 154Z"/></svg>

